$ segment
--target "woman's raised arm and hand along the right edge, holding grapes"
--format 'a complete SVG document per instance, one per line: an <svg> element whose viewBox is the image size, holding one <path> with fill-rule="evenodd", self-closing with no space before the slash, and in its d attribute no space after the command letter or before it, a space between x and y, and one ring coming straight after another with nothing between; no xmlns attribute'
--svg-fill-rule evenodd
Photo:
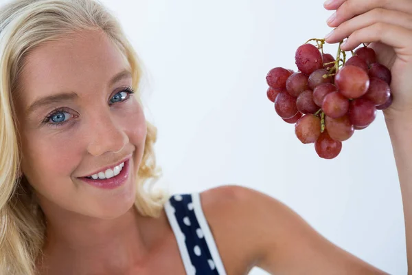
<svg viewBox="0 0 412 275"><path fill-rule="evenodd" d="M349 36L343 50L371 43L378 61L391 69L393 103L385 120L398 168L412 274L412 1L333 0L325 8L336 10L328 23L336 29L327 42Z"/></svg>

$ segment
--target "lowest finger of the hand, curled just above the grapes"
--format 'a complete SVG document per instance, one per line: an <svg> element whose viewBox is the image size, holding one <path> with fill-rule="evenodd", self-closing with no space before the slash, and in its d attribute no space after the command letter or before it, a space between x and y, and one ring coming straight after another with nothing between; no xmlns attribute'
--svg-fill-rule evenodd
<svg viewBox="0 0 412 275"><path fill-rule="evenodd" d="M341 45L344 51L354 50L361 43L381 42L393 47L397 54L411 58L412 31L398 25L388 23L374 23L366 28L356 30Z"/></svg>

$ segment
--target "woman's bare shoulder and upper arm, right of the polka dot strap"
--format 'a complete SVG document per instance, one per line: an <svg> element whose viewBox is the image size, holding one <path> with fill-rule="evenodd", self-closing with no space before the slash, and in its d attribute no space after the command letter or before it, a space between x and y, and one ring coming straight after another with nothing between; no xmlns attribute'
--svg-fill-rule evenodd
<svg viewBox="0 0 412 275"><path fill-rule="evenodd" d="M228 274L387 274L334 245L273 197L228 185L201 193Z"/></svg>

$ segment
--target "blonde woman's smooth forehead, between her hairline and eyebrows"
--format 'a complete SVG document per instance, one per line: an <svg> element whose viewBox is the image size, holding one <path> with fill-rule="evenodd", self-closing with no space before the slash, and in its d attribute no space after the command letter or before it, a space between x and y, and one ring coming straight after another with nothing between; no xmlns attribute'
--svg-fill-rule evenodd
<svg viewBox="0 0 412 275"><path fill-rule="evenodd" d="M30 98L62 89L102 89L125 68L126 58L104 32L84 31L33 50L25 61L19 87L30 102Z"/></svg>

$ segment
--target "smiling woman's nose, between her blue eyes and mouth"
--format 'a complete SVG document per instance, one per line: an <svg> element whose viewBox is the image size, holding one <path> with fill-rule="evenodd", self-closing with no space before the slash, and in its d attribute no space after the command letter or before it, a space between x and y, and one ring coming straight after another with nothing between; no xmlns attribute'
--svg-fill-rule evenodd
<svg viewBox="0 0 412 275"><path fill-rule="evenodd" d="M91 141L87 151L96 157L104 153L118 153L129 142L122 124L107 114L100 115L91 122L88 131Z"/></svg>

